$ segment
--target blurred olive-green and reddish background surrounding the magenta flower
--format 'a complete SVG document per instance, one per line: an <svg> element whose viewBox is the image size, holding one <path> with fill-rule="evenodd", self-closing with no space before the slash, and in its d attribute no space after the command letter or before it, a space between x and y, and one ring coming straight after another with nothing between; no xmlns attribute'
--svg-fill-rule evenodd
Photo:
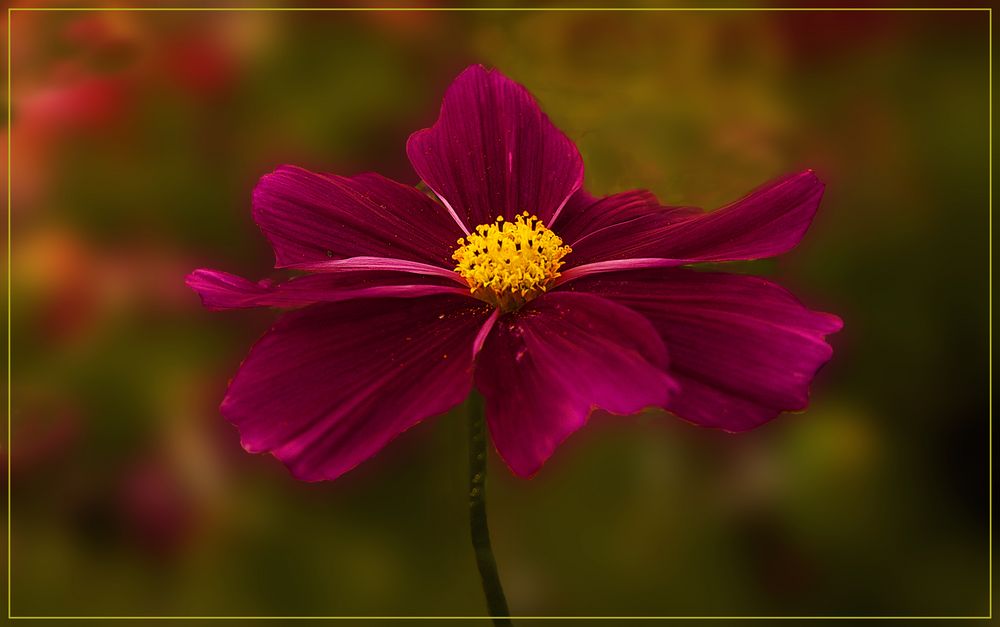
<svg viewBox="0 0 1000 627"><path fill-rule="evenodd" d="M531 481L494 456L513 611L987 612L987 14L12 20L15 615L485 611L463 416L298 483L217 409L276 312L183 283L280 276L250 217L279 164L416 183L406 138L475 62L538 97L595 193L717 207L815 168L802 246L737 269L846 323L804 414L596 416Z"/></svg>

